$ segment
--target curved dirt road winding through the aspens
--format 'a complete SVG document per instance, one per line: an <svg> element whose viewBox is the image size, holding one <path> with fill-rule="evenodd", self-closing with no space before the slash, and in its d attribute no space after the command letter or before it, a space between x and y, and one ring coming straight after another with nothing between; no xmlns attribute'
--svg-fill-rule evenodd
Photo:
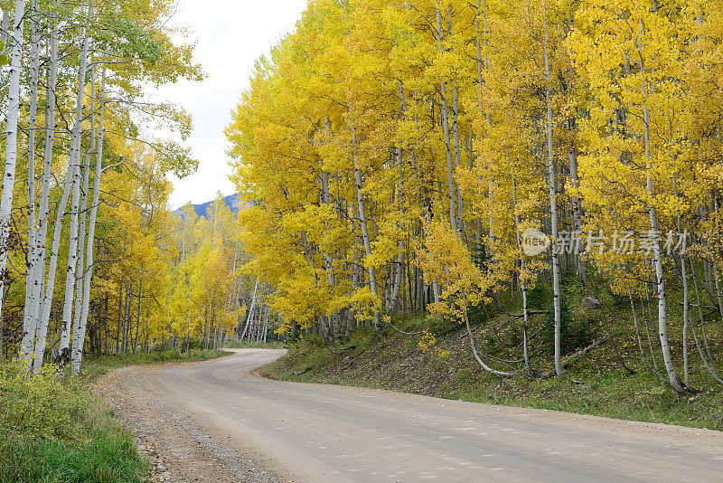
<svg viewBox="0 0 723 483"><path fill-rule="evenodd" d="M723 432L270 381L283 351L235 352L137 382L288 480L723 481Z"/></svg>

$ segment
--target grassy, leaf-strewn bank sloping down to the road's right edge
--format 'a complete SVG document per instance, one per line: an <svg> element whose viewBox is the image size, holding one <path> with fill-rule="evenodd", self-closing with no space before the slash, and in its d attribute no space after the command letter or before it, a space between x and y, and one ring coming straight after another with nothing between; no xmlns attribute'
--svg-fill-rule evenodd
<svg viewBox="0 0 723 483"><path fill-rule="evenodd" d="M484 326L499 326L501 322L498 317ZM571 365L566 381L503 379L480 369L471 354L466 331L460 327L445 333L439 330L438 321L429 319L404 328L412 332L425 326L427 330L442 332L433 337L431 346L428 336L423 341L424 334L388 332L375 337L370 331L361 331L345 345L353 348L336 355L318 338L306 338L289 346L288 354L264 367L262 374L297 382L356 385L723 431L723 394L719 387L705 384L710 389L692 397L680 397L654 378L643 364L638 364L632 348L622 347L621 351L635 374L624 369L613 347L606 344ZM473 332L476 345L489 350L488 354L493 353L493 338L485 328L476 327ZM542 361L542 357L534 359L535 366L549 369ZM691 374L699 381L707 379L699 367Z"/></svg>

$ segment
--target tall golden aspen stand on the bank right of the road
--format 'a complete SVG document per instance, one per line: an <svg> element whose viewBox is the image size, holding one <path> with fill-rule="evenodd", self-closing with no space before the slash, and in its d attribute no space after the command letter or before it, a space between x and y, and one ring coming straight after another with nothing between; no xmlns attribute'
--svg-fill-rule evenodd
<svg viewBox="0 0 723 483"><path fill-rule="evenodd" d="M721 6L309 2L227 128L278 332L341 354L492 312L519 343L470 336L491 374L563 379L624 342L675 393L723 384ZM624 317L577 330L572 292Z"/></svg>

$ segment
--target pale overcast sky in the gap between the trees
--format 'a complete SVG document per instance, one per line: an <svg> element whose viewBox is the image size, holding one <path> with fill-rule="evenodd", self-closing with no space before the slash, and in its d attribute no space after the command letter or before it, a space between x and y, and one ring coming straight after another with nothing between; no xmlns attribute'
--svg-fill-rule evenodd
<svg viewBox="0 0 723 483"><path fill-rule="evenodd" d="M200 161L198 172L175 179L171 207L213 199L218 191L235 193L229 181L223 129L242 90L249 87L254 62L293 31L306 0L179 0L172 24L192 30L195 58L208 78L200 83L164 86L159 94L182 105L193 117L188 146Z"/></svg>

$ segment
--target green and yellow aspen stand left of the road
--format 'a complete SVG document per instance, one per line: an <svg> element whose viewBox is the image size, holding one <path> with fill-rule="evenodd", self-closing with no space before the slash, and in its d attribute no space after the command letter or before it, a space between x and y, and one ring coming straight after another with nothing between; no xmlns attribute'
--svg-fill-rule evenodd
<svg viewBox="0 0 723 483"><path fill-rule="evenodd" d="M249 339L273 334L235 213L169 206L168 175L199 162L190 115L153 89L205 77L174 2L1 6L2 358L79 374L88 354L217 347L247 314Z"/></svg>

